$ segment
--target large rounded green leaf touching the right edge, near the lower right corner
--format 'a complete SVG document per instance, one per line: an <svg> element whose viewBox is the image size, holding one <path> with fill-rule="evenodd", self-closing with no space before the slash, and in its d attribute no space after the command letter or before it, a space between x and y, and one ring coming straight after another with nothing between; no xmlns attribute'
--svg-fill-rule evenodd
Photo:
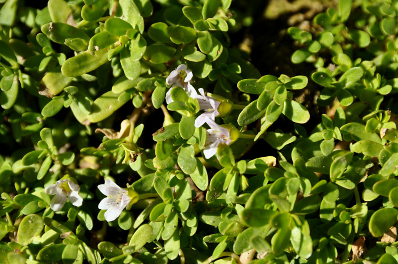
<svg viewBox="0 0 398 264"><path fill-rule="evenodd" d="M374 237L383 236L397 221L397 210L382 208L372 214L369 220L369 231Z"/></svg>

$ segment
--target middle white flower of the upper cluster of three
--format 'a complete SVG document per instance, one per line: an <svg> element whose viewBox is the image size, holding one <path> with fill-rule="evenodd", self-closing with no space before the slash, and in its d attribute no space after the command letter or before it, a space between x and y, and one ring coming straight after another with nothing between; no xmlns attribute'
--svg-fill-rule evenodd
<svg viewBox="0 0 398 264"><path fill-rule="evenodd" d="M206 122L206 118L214 121L214 118L220 115L218 112L218 106L221 102L210 96L204 95L203 88L199 88L199 92L201 95L196 94L193 97L198 99L200 110L204 110L205 112L199 115L195 120L196 127L201 127Z"/></svg>

